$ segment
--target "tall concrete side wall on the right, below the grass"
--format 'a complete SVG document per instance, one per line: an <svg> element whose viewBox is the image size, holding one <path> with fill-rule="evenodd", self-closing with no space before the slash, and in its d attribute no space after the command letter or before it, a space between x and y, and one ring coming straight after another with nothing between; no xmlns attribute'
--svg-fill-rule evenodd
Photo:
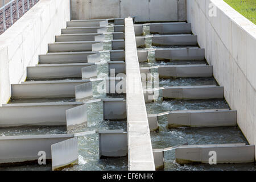
<svg viewBox="0 0 256 182"><path fill-rule="evenodd" d="M205 59L213 65L214 77L224 86L226 101L237 110L238 126L249 143L255 144L255 24L222 0L187 1L187 20L205 49Z"/></svg>

